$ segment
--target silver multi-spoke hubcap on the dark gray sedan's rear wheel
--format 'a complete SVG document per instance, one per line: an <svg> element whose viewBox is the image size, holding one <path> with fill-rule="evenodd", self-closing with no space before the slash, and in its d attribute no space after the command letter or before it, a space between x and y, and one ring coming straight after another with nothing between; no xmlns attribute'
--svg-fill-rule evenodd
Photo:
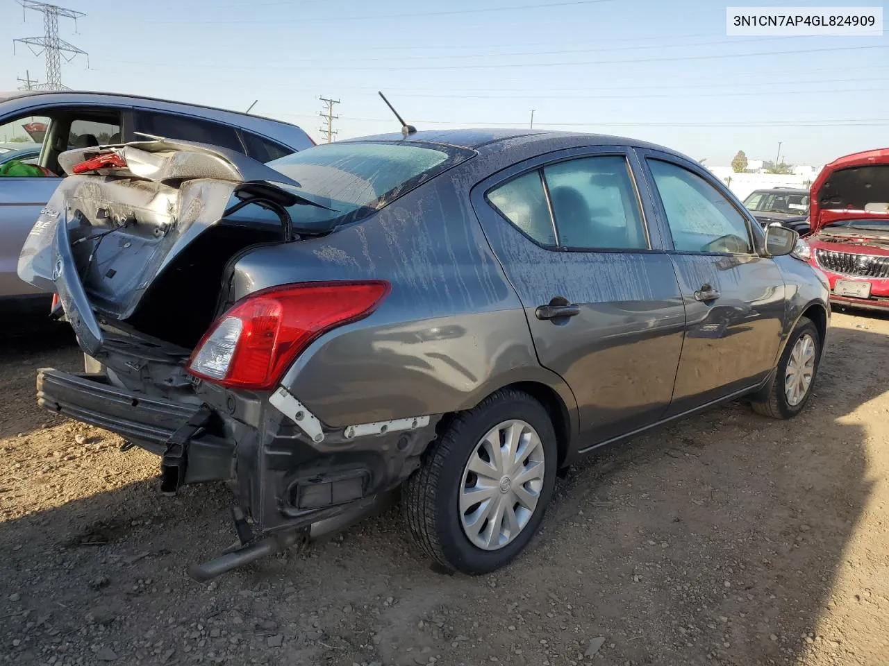
<svg viewBox="0 0 889 666"><path fill-rule="evenodd" d="M496 551L534 515L543 488L543 443L517 419L494 426L469 455L460 488L460 519L469 541Z"/></svg>

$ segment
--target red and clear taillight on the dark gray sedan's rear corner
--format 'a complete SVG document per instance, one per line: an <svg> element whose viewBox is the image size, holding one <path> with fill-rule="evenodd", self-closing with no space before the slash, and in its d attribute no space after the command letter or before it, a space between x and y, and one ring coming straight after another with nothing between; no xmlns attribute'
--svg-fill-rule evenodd
<svg viewBox="0 0 889 666"><path fill-rule="evenodd" d="M318 336L372 313L385 281L300 282L257 291L213 323L188 372L216 384L268 391Z"/></svg>

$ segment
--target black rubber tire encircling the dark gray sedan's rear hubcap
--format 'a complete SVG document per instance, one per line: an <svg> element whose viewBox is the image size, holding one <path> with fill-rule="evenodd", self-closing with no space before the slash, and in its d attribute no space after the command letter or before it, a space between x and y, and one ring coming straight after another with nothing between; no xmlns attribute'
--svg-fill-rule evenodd
<svg viewBox="0 0 889 666"><path fill-rule="evenodd" d="M493 427L520 419L537 431L543 445L540 497L527 524L500 550L485 551L469 541L461 525L459 495L463 472L478 443ZM402 506L414 540L439 565L464 574L487 574L514 559L531 541L556 484L558 448L547 410L525 392L504 389L461 412L433 442L420 469L404 485Z"/></svg>

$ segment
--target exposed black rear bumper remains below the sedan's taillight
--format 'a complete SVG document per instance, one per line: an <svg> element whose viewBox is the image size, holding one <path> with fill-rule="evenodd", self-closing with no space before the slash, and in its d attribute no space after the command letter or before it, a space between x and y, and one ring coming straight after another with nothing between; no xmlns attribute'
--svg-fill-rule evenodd
<svg viewBox="0 0 889 666"><path fill-rule="evenodd" d="M435 439L437 418L332 428L279 393L260 400L264 407L250 416L241 403L256 396L214 391L186 403L111 385L105 374L37 374L41 407L161 456L162 490L228 481L260 534L333 519L387 493L419 466Z"/></svg>

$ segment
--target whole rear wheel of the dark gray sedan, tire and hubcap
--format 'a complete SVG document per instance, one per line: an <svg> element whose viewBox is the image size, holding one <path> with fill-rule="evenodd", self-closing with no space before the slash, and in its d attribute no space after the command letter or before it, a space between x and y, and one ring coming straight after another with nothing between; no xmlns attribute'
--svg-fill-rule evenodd
<svg viewBox="0 0 889 666"><path fill-rule="evenodd" d="M405 484L420 547L466 574L506 565L531 541L556 482L556 433L530 395L496 392L462 412Z"/></svg>

